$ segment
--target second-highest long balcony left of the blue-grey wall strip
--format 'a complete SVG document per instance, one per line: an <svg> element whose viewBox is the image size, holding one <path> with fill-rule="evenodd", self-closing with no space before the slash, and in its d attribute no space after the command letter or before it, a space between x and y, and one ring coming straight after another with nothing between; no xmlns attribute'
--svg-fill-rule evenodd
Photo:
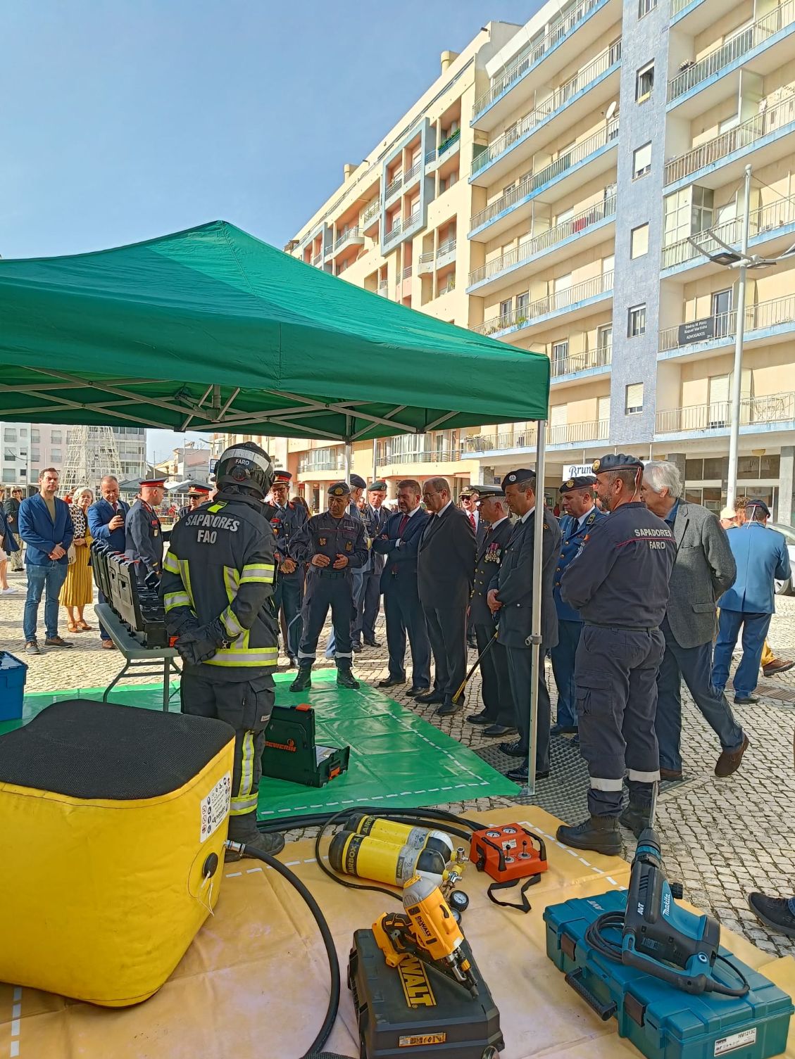
<svg viewBox="0 0 795 1059"><path fill-rule="evenodd" d="M485 185L515 168L520 158L541 150L560 132L558 119L567 125L586 118L601 103L618 92L621 41L597 57L565 85L561 85L542 106L525 114L512 128L475 155L470 183ZM477 149L477 148L476 148Z"/></svg>

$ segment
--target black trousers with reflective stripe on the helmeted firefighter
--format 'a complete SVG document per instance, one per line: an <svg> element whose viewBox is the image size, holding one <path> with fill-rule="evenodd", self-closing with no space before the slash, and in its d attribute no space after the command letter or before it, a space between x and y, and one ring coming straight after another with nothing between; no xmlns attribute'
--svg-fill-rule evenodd
<svg viewBox="0 0 795 1059"><path fill-rule="evenodd" d="M262 778L265 729L273 710L273 678L269 672L250 680L216 679L212 666L186 666L180 681L183 714L217 717L234 729L234 766L229 838L236 842L257 833L257 798Z"/></svg>

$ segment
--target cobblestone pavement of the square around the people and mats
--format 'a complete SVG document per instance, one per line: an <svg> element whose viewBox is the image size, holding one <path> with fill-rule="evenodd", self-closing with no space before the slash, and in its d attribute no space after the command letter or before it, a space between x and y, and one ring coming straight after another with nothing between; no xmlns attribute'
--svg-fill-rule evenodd
<svg viewBox="0 0 795 1059"><path fill-rule="evenodd" d="M0 597L0 649L12 651L28 662L26 689L45 692L109 683L121 668L119 654L102 650L96 632L70 636L66 633L66 621L61 622L60 631L74 642L73 650L47 650L38 658L23 654L21 617L24 575L10 574L8 578L19 592ZM96 626L91 608L86 611L86 620ZM376 635L382 642L386 639L383 617L379 618ZM770 642L777 654L785 658L795 656L795 597L778 600ZM285 661L282 659L282 662ZM471 654L471 661L474 661L474 654ZM365 648L357 654L355 672L369 683L386 677L386 645ZM547 676L554 698L549 670ZM137 682L147 680L151 678L138 678ZM479 708L479 690L476 674L467 689L466 707L449 719L435 717L432 706L419 707L406 697L405 688L393 688L392 697L477 752L488 748L490 741L483 739L480 731L467 724L464 718ZM759 923L746 901L746 895L752 890L781 895L795 892L795 823L792 813L795 804L795 669L781 677L762 679L757 694L760 696L758 705L738 707L739 719L750 739L743 766L735 776L718 779L712 772L720 752L717 738L683 687L685 778L681 784L666 785L667 789L660 793L657 826L668 875L671 879L683 881L687 899L710 912L728 928L745 934L766 952L795 955L795 943ZM576 823L585 812L584 771L568 747L560 749L559 754L560 760L569 765L565 778L558 779L554 797L559 801L554 802L552 797L552 802L563 806L559 814L565 814L564 809L567 809L569 822ZM572 766L571 762L577 764ZM547 805L550 795L545 794L545 784L553 782L554 774L550 780L541 780L535 798L520 801ZM512 800L506 797L480 798L449 808L471 812L510 804ZM624 839L631 838L630 832L622 833ZM631 859L633 848L634 841L628 842L624 850L628 859Z"/></svg>

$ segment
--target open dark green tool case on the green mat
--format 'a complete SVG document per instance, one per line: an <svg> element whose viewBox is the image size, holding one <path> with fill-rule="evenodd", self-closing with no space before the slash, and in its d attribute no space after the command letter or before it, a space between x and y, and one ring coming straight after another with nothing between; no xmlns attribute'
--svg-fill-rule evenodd
<svg viewBox="0 0 795 1059"><path fill-rule="evenodd" d="M324 787L348 771L350 758L350 747L318 747L315 711L308 703L273 706L265 729L264 775L304 787Z"/></svg>

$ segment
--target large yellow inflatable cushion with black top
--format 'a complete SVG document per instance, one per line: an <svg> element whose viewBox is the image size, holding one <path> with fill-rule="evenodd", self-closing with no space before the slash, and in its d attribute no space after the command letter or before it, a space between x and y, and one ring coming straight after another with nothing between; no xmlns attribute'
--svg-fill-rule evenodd
<svg viewBox="0 0 795 1059"><path fill-rule="evenodd" d="M218 899L233 746L84 699L0 737L0 981L109 1007L160 988Z"/></svg>

